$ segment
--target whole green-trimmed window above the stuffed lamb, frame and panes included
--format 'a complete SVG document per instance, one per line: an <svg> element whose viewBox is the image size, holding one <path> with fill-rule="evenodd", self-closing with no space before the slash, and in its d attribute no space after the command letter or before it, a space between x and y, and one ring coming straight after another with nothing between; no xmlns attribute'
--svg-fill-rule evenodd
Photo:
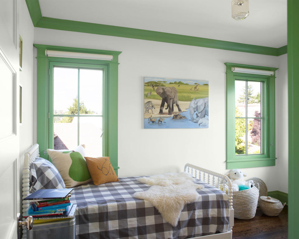
<svg viewBox="0 0 299 239"><path fill-rule="evenodd" d="M226 65L227 169L275 165L275 70ZM274 75L233 72L232 68L273 71Z"/></svg>

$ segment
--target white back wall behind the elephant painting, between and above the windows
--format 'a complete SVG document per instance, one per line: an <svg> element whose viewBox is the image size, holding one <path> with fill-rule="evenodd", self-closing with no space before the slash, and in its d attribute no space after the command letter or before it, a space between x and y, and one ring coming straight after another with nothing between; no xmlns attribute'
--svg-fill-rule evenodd
<svg viewBox="0 0 299 239"><path fill-rule="evenodd" d="M35 28L34 42L122 51L118 80L121 177L178 172L187 162L226 172L224 63L278 67L278 58L273 56L42 28ZM143 129L144 76L208 80L209 128ZM269 191L278 190L277 165L244 171L247 178L263 179Z"/></svg>

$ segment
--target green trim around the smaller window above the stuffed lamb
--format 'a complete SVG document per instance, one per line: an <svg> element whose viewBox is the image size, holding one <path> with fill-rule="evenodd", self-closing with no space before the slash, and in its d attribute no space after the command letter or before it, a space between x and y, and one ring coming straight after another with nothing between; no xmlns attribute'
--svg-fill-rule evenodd
<svg viewBox="0 0 299 239"><path fill-rule="evenodd" d="M225 63L226 65L226 168L251 168L275 166L275 71L278 68ZM273 76L236 73L232 67L274 71ZM253 155L235 154L235 80L264 82L262 153ZM263 96L262 96L263 97Z"/></svg>

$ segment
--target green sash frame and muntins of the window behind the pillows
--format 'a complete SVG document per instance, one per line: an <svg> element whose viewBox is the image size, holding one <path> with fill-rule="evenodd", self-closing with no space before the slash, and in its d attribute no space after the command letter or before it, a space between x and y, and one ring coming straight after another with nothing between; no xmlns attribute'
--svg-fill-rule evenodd
<svg viewBox="0 0 299 239"><path fill-rule="evenodd" d="M102 115L80 115L79 108L77 115L55 115L54 114L54 68L61 67L61 68L75 68L75 69L95 69L95 70L102 70L103 72L103 94L102 94ZM54 117L55 116L65 116L65 117L102 117L102 156L107 155L108 151L108 137L105 132L107 132L107 107L108 107L108 79L107 79L107 66L106 65L98 65L98 64L85 64L85 63L71 63L71 62L56 62L50 61L49 62L49 148L54 148ZM79 70L78 70L78 107L80 101L80 80L79 80ZM78 118L80 119L80 118ZM77 129L77 142L79 144L80 138L80 128L79 128L79 120L78 120L78 129Z"/></svg>

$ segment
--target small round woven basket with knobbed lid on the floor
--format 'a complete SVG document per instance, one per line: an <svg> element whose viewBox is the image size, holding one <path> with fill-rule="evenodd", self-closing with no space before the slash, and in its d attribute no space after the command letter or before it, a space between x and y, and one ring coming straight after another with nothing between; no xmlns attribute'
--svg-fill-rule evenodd
<svg viewBox="0 0 299 239"><path fill-rule="evenodd" d="M278 216L284 205L286 205L286 203L282 204L276 198L271 198L269 196L259 197L259 206L262 209L262 212L267 216Z"/></svg>

